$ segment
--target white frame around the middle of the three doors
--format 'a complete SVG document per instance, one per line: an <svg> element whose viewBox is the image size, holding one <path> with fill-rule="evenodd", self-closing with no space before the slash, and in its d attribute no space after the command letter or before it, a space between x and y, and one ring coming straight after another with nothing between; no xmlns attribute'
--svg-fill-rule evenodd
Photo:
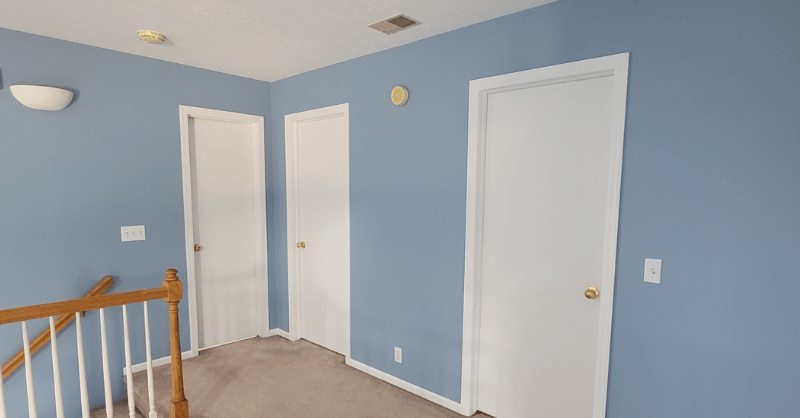
<svg viewBox="0 0 800 418"><path fill-rule="evenodd" d="M299 181L299 135L300 124L316 122L325 119L344 117L347 121L347 166L348 189L350 187L350 104L343 103L320 109L286 115L284 118L286 130L286 248L289 269L289 339L300 339L300 330L303 325L302 288L300 286L300 257L297 257L297 242L299 236L299 209L297 201L297 187ZM350 213L350 199L347 199L347 213ZM350 248L347 248L347 294L350 295ZM349 302L349 301L348 301ZM346 336L347 346L345 358L350 359L350 304L347 310Z"/></svg>

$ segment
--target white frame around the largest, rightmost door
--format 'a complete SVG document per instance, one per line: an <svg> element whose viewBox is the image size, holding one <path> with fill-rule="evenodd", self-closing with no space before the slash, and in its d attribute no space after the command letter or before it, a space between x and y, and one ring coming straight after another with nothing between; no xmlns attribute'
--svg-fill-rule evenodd
<svg viewBox="0 0 800 418"><path fill-rule="evenodd" d="M617 257L622 145L625 137L625 106L628 90L629 54L623 53L513 74L472 80L469 85L469 137L467 158L467 230L464 265L464 340L462 353L461 407L473 415L478 407L478 361L480 358L481 272L483 258L484 184L486 178L487 104L490 94L535 86L613 76L612 147L608 216L606 218L603 273L598 330L597 370L593 417L606 413L608 364L611 349L611 318L614 308L614 275Z"/></svg>

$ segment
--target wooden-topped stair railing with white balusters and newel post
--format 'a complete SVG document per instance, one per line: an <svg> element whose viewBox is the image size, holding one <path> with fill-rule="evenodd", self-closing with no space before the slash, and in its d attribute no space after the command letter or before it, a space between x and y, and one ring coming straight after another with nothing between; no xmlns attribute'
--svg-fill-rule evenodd
<svg viewBox="0 0 800 418"><path fill-rule="evenodd" d="M100 337L103 357L103 383L106 398L106 415L113 418L114 407L111 394L111 377L108 364L108 343L106 338L105 309L121 306L123 318L123 334L125 337L125 363L126 378L128 382L128 410L130 417L136 414L133 401L133 375L130 353L130 336L128 333L128 308L133 303L144 303L145 313L145 344L147 346L147 376L148 392L150 394L150 414L155 417L155 401L153 399L153 362L150 355L150 325L148 323L147 302L163 299L169 306L170 328L170 357L172 363L172 402L170 418L189 418L189 401L183 390L183 362L181 359L180 327L178 322L178 303L183 298L183 285L177 276L178 271L169 269L163 285L153 289L136 290L133 292L115 293L110 295L91 296L83 299L74 299L64 302L47 303L44 305L28 306L24 308L6 309L0 311L0 325L21 323L23 357L25 360L25 382L28 391L28 416L37 418L36 398L33 383L33 367L31 364L31 344L28 338L27 321L41 318L50 319L51 348L53 352L53 380L55 383L56 417L64 418L64 401L61 392L61 375L58 359L58 343L56 339L57 316L74 315L77 332L78 348L78 374L81 389L82 418L89 418L89 392L86 383L86 367L83 355L83 335L81 329L81 313L99 310L100 312ZM5 407L3 379L0 378L0 418L8 418Z"/></svg>

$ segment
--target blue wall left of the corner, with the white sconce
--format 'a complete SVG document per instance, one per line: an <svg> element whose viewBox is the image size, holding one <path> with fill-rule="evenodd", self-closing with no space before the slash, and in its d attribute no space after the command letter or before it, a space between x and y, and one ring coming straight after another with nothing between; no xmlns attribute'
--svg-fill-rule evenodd
<svg viewBox="0 0 800 418"><path fill-rule="evenodd" d="M115 292L159 286L167 268L185 278L178 105L262 115L269 133L269 84L4 29L0 71L0 309L80 297L104 275L114 276ZM8 90L26 83L66 87L78 97L60 112L31 110ZM139 224L147 240L121 243L119 227ZM166 304L151 306L153 354L167 356ZM188 304L181 309L188 349ZM132 313L131 332L139 337L133 361L139 363L141 308ZM118 310L109 312L108 322L120 399ZM32 335L45 326L32 323ZM99 406L96 312L84 329L91 401ZM67 413L77 416L74 332L74 326L63 332L59 348ZM20 333L18 325L0 326L0 361L21 348ZM34 360L39 416L55 416L50 361L49 346ZM9 416L27 414L24 380L17 372L5 383Z"/></svg>

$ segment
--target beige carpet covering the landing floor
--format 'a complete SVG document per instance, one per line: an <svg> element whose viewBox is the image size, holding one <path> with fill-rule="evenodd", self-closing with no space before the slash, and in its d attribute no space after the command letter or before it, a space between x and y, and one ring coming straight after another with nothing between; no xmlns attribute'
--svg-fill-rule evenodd
<svg viewBox="0 0 800 418"><path fill-rule="evenodd" d="M154 375L156 411L168 417L170 366ZM184 362L184 381L192 418L461 417L345 365L344 356L281 337L205 350ZM134 383L137 409L146 412L146 373L136 373Z"/></svg>

